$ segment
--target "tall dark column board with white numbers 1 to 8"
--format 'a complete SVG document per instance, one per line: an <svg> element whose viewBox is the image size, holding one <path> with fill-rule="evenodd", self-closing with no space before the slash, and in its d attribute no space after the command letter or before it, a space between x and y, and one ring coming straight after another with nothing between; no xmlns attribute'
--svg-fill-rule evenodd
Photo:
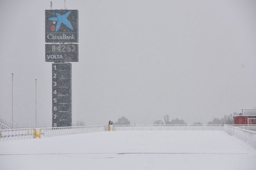
<svg viewBox="0 0 256 170"><path fill-rule="evenodd" d="M52 63L52 127L72 126L71 63Z"/></svg>

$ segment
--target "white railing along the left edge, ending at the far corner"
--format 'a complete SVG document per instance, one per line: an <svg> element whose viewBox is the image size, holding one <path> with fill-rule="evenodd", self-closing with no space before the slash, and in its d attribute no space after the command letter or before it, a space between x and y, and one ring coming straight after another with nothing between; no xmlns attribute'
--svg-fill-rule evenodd
<svg viewBox="0 0 256 170"><path fill-rule="evenodd" d="M71 126L71 127L58 127L58 128L0 129L0 141L34 138L35 137L34 129L36 129L37 134L41 129L42 137L52 137L52 136L60 136L60 135L72 135L72 134L80 134L80 133L107 131L108 125Z"/></svg>

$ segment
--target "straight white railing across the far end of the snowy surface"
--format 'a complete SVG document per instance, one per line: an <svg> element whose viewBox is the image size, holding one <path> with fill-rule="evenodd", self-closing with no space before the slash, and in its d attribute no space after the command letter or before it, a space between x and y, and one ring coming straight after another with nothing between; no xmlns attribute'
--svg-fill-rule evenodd
<svg viewBox="0 0 256 170"><path fill-rule="evenodd" d="M133 130L224 130L224 125L113 125L115 131Z"/></svg>

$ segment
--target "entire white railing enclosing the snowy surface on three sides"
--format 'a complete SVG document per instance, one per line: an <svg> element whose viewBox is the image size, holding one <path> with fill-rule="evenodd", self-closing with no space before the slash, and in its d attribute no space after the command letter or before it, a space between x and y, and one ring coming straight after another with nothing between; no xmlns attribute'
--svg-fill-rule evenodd
<svg viewBox="0 0 256 170"><path fill-rule="evenodd" d="M248 125L113 125L115 131L131 130L224 130L256 149L256 126ZM59 128L25 128L0 129L0 141L27 139L35 137L36 133L42 137L72 135L89 132L108 131L108 125L72 126ZM41 129L41 133L40 133Z"/></svg>

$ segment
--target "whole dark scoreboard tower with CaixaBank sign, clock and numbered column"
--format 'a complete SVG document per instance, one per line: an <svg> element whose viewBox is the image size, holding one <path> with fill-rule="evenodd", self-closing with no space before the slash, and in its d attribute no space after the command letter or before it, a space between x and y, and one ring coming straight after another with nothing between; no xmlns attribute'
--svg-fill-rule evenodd
<svg viewBox="0 0 256 170"><path fill-rule="evenodd" d="M45 61L52 63L52 127L72 126L71 63L78 62L78 10L45 10Z"/></svg>

